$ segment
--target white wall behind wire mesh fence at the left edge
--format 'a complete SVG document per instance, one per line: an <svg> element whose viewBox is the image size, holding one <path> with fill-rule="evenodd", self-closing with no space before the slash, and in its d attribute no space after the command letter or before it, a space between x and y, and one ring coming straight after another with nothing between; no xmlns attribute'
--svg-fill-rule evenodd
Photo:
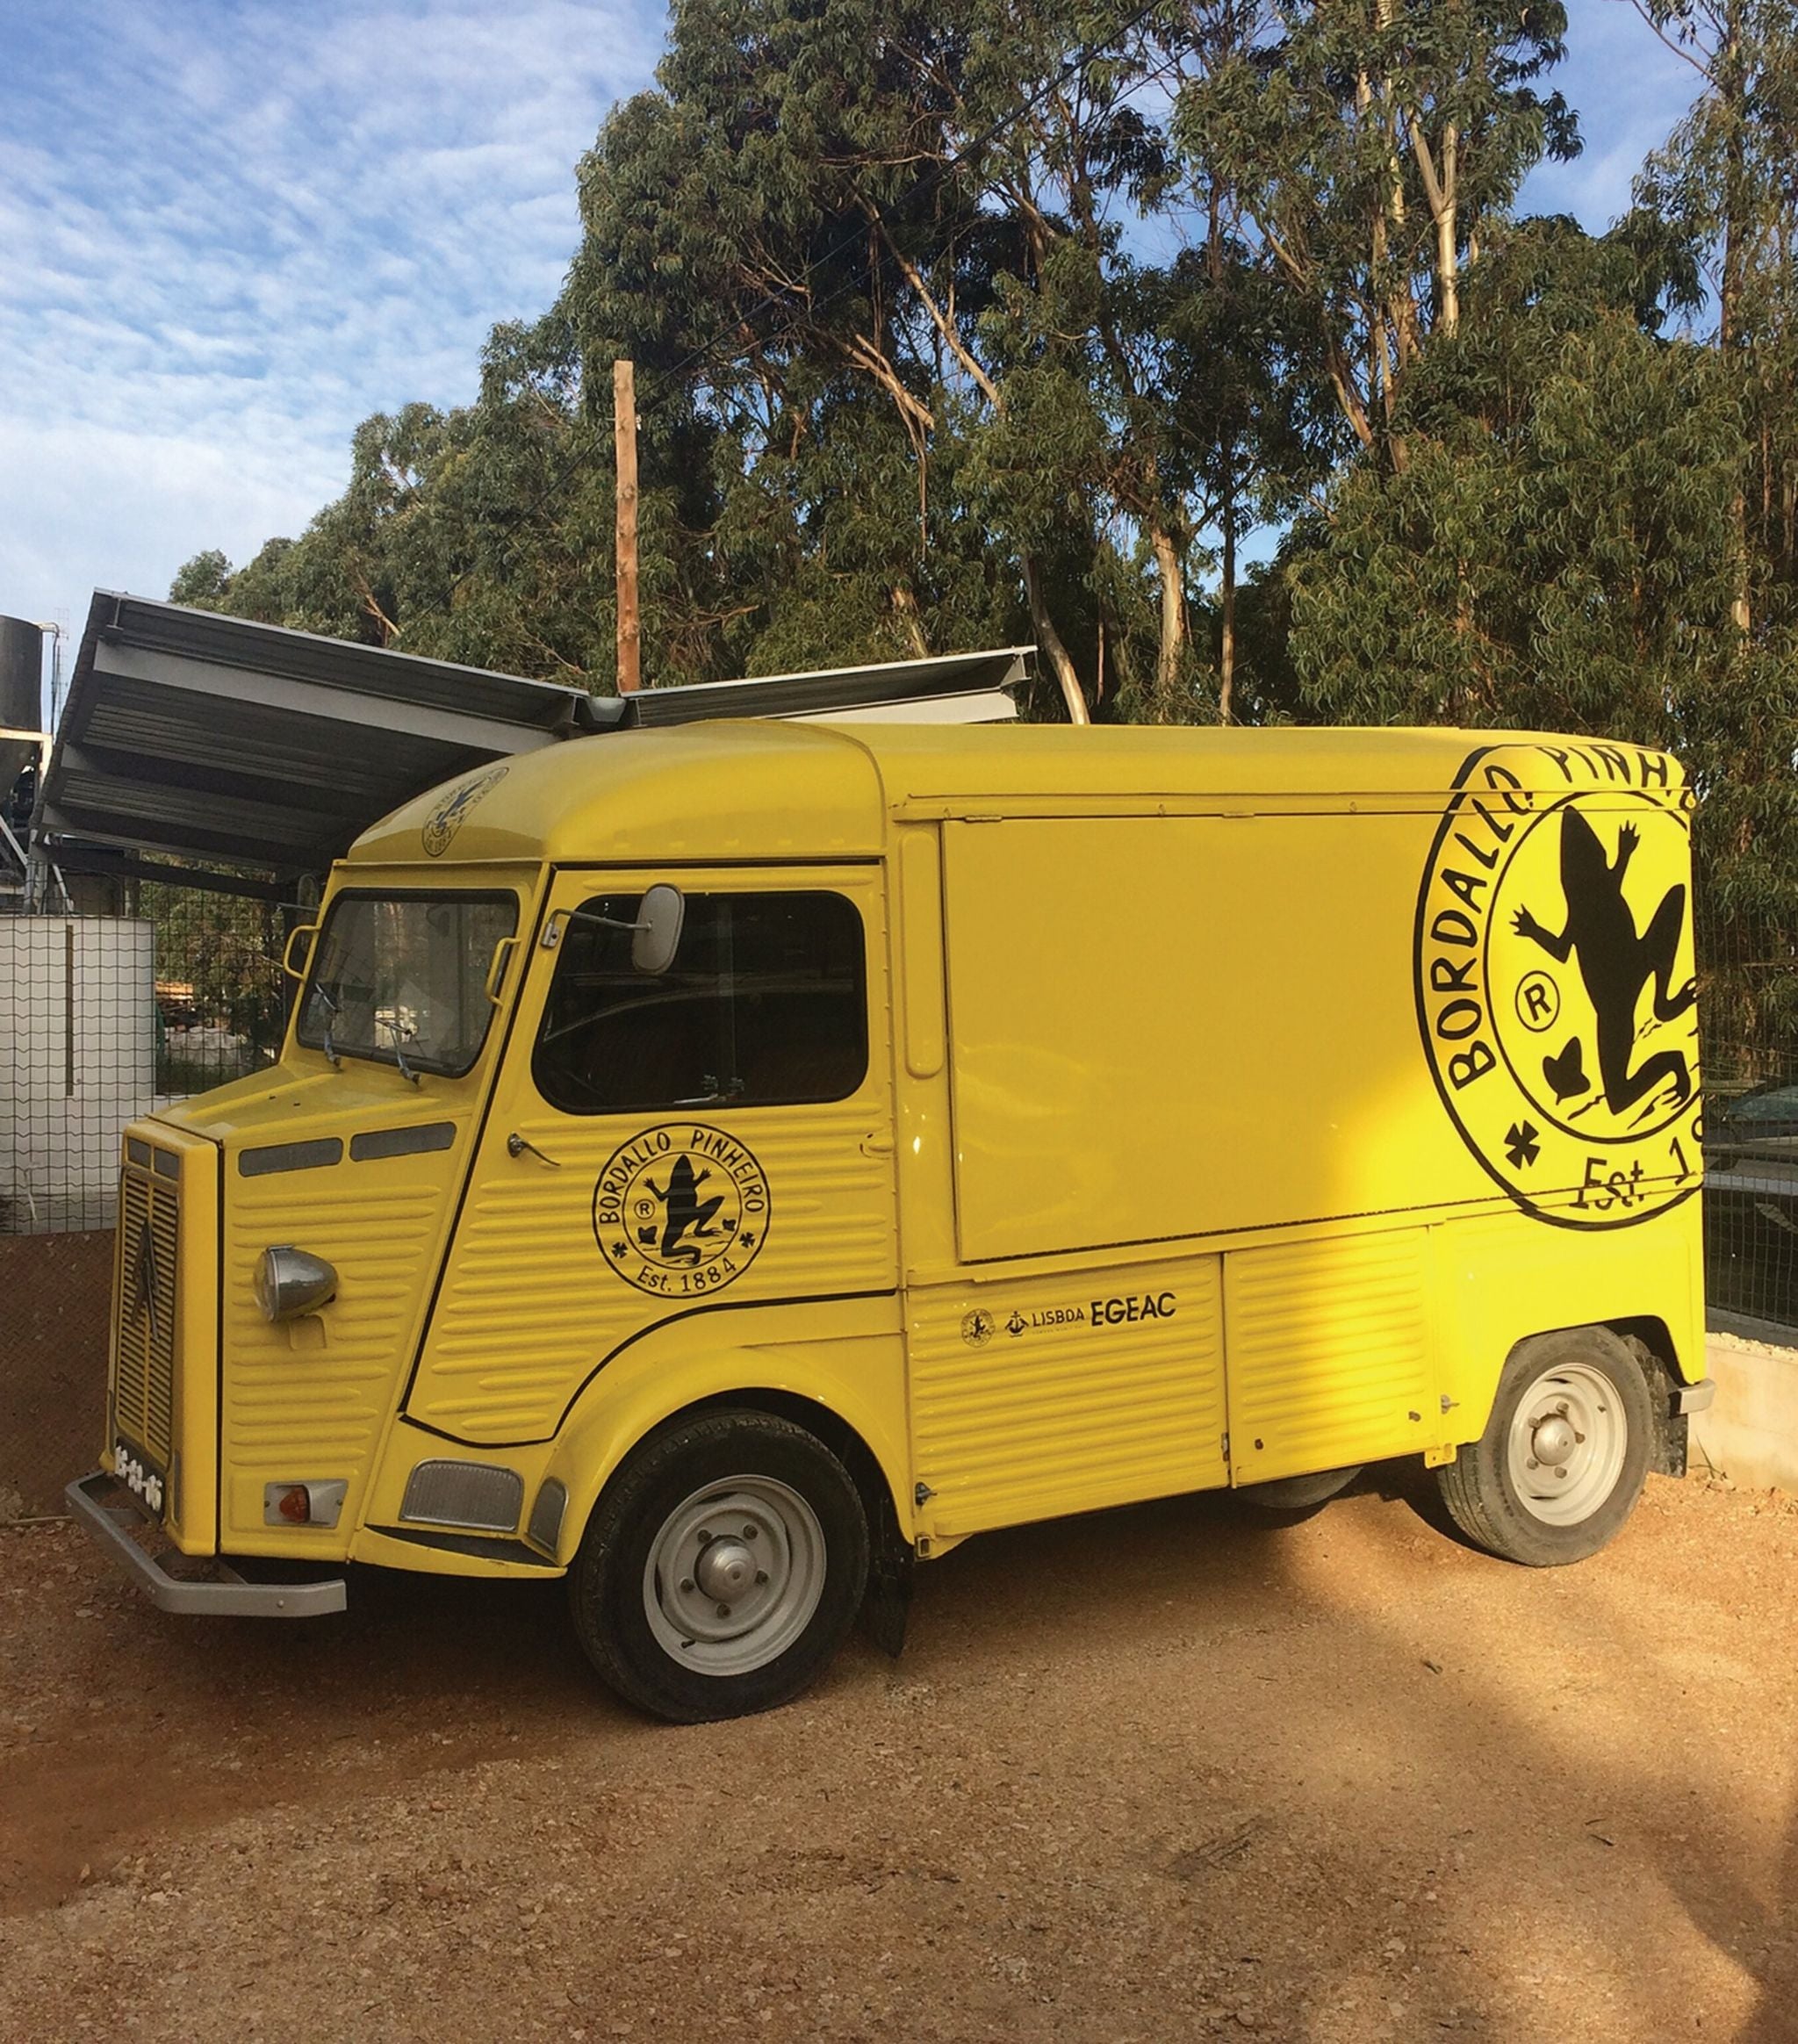
<svg viewBox="0 0 1798 2044"><path fill-rule="evenodd" d="M155 934L0 918L0 1230L110 1228L119 1130L155 1083Z"/></svg>

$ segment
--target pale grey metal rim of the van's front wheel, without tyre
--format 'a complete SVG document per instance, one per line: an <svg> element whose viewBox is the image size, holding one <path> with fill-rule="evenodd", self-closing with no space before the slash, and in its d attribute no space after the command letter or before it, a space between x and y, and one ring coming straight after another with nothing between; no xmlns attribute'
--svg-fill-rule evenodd
<svg viewBox="0 0 1798 2044"><path fill-rule="evenodd" d="M772 1476L727 1476L662 1521L644 1566L644 1615L672 1660L701 1674L766 1668L823 1596L823 1527Z"/></svg>

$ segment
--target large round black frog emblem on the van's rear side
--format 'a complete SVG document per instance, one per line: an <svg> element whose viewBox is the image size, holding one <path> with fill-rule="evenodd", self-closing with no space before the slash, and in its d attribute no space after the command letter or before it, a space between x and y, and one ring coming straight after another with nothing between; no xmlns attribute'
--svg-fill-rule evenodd
<svg viewBox="0 0 1798 2044"><path fill-rule="evenodd" d="M1418 897L1418 1022L1479 1163L1618 1228L1698 1190L1690 795L1637 746L1475 752Z"/></svg>

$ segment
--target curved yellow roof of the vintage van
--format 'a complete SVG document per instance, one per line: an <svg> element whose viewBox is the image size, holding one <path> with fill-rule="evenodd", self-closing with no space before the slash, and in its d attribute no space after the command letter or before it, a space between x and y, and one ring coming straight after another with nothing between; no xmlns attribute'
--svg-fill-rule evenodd
<svg viewBox="0 0 1798 2044"><path fill-rule="evenodd" d="M1467 756L1496 744L1592 754L1600 742L1442 728L689 724L576 738L464 775L382 818L349 858L866 858L885 850L895 814L1042 816L1069 801L1116 814L1230 797L1393 807L1440 799ZM1565 789L1547 754L1543 766L1541 785ZM1679 769L1669 777L1677 785Z"/></svg>

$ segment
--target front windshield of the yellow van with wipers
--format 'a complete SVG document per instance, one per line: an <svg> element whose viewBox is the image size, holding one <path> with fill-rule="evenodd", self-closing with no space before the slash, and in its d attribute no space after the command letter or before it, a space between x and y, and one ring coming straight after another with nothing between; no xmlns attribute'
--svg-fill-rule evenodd
<svg viewBox="0 0 1798 2044"><path fill-rule="evenodd" d="M337 895L313 946L298 1040L458 1077L480 1057L492 948L517 920L507 893Z"/></svg>

